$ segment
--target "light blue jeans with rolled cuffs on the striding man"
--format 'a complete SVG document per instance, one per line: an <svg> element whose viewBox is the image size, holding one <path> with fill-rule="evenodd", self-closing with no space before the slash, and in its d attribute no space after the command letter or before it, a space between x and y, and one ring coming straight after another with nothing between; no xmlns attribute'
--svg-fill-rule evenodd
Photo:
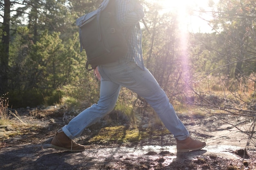
<svg viewBox="0 0 256 170"><path fill-rule="evenodd" d="M189 137L188 130L177 117L166 93L148 69L142 70L134 62L126 60L101 65L98 69L101 74L99 102L83 110L62 128L70 139L79 137L86 127L114 109L121 86L143 97L176 139L184 140Z"/></svg>

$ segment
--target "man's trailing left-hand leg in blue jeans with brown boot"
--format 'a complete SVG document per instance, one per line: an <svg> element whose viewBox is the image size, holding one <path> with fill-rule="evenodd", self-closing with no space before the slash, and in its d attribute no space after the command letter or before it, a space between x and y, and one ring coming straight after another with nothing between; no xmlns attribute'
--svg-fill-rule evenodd
<svg viewBox="0 0 256 170"><path fill-rule="evenodd" d="M93 104L90 108L83 110L69 124L58 130L51 147L68 151L85 150L84 146L77 144L72 139L79 137L86 127L96 123L113 110L120 88L120 85L102 79L98 104Z"/></svg>

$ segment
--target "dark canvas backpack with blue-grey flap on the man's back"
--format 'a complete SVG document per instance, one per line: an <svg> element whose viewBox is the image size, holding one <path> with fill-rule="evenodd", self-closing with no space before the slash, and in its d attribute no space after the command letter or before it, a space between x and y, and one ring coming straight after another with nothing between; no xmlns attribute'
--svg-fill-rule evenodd
<svg viewBox="0 0 256 170"><path fill-rule="evenodd" d="M76 25L79 26L80 52L85 49L87 56L85 68L92 66L89 71L126 55L128 41L116 22L115 0L104 0L97 10L78 18Z"/></svg>

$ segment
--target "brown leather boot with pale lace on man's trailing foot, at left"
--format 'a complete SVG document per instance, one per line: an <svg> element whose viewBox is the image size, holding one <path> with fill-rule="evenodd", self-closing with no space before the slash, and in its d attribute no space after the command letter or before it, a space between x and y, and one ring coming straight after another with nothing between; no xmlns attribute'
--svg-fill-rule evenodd
<svg viewBox="0 0 256 170"><path fill-rule="evenodd" d="M71 152L84 151L85 146L77 144L60 129L52 139L51 147Z"/></svg>

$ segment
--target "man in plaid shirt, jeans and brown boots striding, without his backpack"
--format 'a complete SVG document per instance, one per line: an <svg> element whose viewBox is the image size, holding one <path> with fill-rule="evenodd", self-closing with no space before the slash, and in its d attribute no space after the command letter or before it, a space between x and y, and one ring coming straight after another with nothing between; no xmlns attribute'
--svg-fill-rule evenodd
<svg viewBox="0 0 256 170"><path fill-rule="evenodd" d="M117 102L121 86L143 97L155 110L165 127L177 140L177 152L199 150L205 142L192 139L189 131L177 117L166 93L159 86L153 75L144 66L142 57L142 33L139 20L144 18L144 10L137 0L116 0L117 22L129 32L128 53L122 59L110 64L98 66L101 75L100 98L97 104L83 110L69 124L58 130L51 147L68 151L83 151L85 146L73 139L83 130L110 113ZM132 27L130 33L130 27ZM99 75L99 74L97 74Z"/></svg>

